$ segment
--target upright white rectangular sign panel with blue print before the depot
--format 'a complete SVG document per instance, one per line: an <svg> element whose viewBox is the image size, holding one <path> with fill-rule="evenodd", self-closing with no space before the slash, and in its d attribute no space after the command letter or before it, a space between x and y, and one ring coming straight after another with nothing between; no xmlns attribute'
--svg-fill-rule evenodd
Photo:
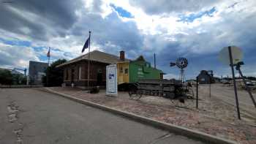
<svg viewBox="0 0 256 144"><path fill-rule="evenodd" d="M110 64L106 67L106 79L106 95L116 96L118 94L116 64Z"/></svg>

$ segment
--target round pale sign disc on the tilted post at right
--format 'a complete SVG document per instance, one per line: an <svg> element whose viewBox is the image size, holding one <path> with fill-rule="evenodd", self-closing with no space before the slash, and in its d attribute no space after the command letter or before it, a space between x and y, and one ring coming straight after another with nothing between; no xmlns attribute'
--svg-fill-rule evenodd
<svg viewBox="0 0 256 144"><path fill-rule="evenodd" d="M243 58L242 50L236 46L231 46L231 53L233 58L233 64L237 64ZM219 61L223 64L230 65L230 53L228 47L222 48L219 52Z"/></svg>

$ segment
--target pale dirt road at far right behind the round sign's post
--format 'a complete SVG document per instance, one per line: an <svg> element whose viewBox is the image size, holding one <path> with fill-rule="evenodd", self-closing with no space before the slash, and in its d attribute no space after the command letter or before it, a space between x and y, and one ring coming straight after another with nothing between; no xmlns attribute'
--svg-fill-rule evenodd
<svg viewBox="0 0 256 144"><path fill-rule="evenodd" d="M200 92L204 94L209 94L208 85L200 85ZM256 94L252 94L256 100ZM224 86L223 84L212 84L211 85L211 96L216 96L218 99L233 105L236 109L236 99L233 86ZM247 115L256 115L256 107L252 103L252 99L247 93L247 91L238 90L238 103L241 109L241 113ZM256 117L255 117L256 118Z"/></svg>

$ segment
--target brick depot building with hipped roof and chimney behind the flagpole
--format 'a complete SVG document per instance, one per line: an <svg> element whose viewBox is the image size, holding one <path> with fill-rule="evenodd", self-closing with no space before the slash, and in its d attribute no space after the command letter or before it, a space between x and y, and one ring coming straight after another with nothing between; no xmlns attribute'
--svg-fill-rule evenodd
<svg viewBox="0 0 256 144"><path fill-rule="evenodd" d="M116 64L117 62L129 61L125 58L124 51L120 51L120 56L103 53L99 50L94 50L86 53L83 56L74 58L58 67L64 70L64 83L66 86L86 87L88 83L88 59L90 55L90 73L89 86L105 86L106 85L106 66Z"/></svg>

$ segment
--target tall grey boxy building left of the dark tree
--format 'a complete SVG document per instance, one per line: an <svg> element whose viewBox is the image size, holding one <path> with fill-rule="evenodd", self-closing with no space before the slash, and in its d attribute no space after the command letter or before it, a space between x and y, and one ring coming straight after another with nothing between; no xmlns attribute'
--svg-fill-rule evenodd
<svg viewBox="0 0 256 144"><path fill-rule="evenodd" d="M42 85L42 76L45 75L47 67L47 63L29 61L29 84Z"/></svg>

